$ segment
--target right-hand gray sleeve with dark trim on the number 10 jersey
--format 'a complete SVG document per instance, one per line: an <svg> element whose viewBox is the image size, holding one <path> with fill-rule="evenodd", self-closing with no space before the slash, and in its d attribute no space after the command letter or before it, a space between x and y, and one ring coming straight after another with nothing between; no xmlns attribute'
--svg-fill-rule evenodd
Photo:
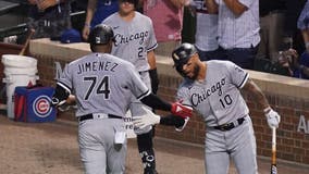
<svg viewBox="0 0 309 174"><path fill-rule="evenodd" d="M230 61L226 61L226 67L232 83L237 86L237 88L243 88L249 78L249 74Z"/></svg>

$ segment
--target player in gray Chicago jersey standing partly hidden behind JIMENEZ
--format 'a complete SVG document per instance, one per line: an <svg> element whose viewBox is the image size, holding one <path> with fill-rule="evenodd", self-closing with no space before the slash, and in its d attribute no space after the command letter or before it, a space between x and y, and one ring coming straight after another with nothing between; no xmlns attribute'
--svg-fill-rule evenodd
<svg viewBox="0 0 309 174"><path fill-rule="evenodd" d="M107 17L102 24L112 26L115 34L115 42L112 48L112 54L129 61L138 71L143 82L149 89L158 89L158 77L156 71L154 49L157 39L151 20L135 11L138 0L120 0L120 11ZM150 76L153 77L150 79ZM151 86L152 84L152 86ZM144 113L140 102L133 97L131 105L133 116ZM168 125L175 124L181 130L187 123L180 117L171 117L171 122L164 122ZM173 121L176 121L175 123ZM156 174L156 157L152 145L152 126L143 129L135 128L137 134L138 151L144 164L144 174Z"/></svg>

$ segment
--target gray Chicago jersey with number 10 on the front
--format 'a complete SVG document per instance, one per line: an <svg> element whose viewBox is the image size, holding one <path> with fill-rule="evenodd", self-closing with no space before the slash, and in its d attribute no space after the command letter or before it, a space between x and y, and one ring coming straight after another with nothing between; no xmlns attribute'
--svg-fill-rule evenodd
<svg viewBox="0 0 309 174"><path fill-rule="evenodd" d="M249 112L239 91L248 77L247 72L230 61L208 61L205 82L185 79L177 100L199 112L207 126L230 123Z"/></svg>

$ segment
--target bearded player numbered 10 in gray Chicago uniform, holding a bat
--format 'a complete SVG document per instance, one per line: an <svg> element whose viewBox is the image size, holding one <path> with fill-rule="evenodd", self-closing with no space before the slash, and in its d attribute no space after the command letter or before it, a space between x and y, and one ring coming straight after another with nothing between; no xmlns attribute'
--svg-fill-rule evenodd
<svg viewBox="0 0 309 174"><path fill-rule="evenodd" d="M172 58L176 71L184 77L177 99L200 113L207 126L206 173L227 174L230 159L233 159L239 174L257 174L256 138L240 90L256 97L271 128L279 127L281 116L271 109L249 74L236 64L218 60L201 62L190 44L177 47ZM134 123L144 127L158 120L158 115L149 114L136 117Z"/></svg>

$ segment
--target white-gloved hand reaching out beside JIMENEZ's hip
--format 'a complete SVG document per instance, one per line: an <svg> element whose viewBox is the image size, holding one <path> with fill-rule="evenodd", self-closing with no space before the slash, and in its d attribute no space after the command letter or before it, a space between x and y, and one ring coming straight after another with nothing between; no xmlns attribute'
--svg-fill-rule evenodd
<svg viewBox="0 0 309 174"><path fill-rule="evenodd" d="M145 128L147 126L151 126L154 124L159 124L161 117L157 114L154 114L149 109L141 107L143 110L146 112L144 115L140 116L133 116L133 124L136 127Z"/></svg>

